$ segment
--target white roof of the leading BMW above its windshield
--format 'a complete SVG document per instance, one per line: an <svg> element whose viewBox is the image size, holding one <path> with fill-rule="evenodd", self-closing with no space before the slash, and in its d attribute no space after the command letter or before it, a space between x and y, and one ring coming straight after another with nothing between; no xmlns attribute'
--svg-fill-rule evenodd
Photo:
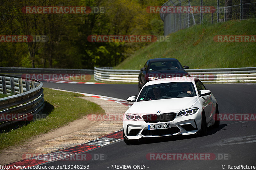
<svg viewBox="0 0 256 170"><path fill-rule="evenodd" d="M197 79L196 77L188 77L188 76L163 78L163 79L149 81L148 83L146 83L145 86L162 84L162 83L174 83L174 82L194 82L196 79Z"/></svg>

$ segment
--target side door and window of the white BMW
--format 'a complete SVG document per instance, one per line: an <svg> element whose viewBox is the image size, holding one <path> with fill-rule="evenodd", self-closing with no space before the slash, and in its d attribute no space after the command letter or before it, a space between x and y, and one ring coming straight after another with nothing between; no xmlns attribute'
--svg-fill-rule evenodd
<svg viewBox="0 0 256 170"><path fill-rule="evenodd" d="M199 90L206 90L205 86L200 80L195 80L196 88L198 90L199 95L201 94ZM212 100L211 94L207 96L200 97L200 100L204 103L204 112L206 116L207 123L211 122L212 120Z"/></svg>

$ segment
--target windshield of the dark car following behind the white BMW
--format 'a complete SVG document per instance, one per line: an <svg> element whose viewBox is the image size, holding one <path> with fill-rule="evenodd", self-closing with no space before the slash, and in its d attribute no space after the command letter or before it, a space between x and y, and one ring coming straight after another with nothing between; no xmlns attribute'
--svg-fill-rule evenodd
<svg viewBox="0 0 256 170"><path fill-rule="evenodd" d="M150 63L149 70L175 70L183 69L178 61L165 61L165 62L153 62Z"/></svg>

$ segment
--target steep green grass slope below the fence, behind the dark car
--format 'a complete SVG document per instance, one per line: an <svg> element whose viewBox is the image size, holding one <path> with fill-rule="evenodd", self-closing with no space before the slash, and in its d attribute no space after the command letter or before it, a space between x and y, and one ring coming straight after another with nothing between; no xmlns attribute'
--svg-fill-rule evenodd
<svg viewBox="0 0 256 170"><path fill-rule="evenodd" d="M170 34L169 42L154 42L136 51L115 69L140 69L151 58L177 58L198 68L256 66L256 42L215 42L215 35L256 35L256 19L196 25Z"/></svg>

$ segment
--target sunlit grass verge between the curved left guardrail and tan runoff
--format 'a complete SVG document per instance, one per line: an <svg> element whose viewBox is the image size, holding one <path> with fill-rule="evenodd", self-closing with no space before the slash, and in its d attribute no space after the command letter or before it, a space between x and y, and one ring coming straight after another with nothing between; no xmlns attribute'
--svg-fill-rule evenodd
<svg viewBox="0 0 256 170"><path fill-rule="evenodd" d="M48 116L30 122L26 126L18 125L16 128L2 131L0 151L8 147L26 144L32 137L65 126L68 122L82 118L84 115L105 113L99 105L77 98L78 96L83 95L44 88L44 114L48 114Z"/></svg>

